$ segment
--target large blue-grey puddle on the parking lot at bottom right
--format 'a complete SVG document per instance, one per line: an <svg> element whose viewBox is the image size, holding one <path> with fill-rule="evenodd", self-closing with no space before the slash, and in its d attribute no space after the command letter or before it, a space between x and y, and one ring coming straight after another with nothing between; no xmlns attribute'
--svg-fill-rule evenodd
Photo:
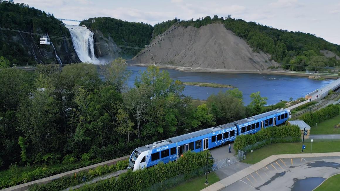
<svg viewBox="0 0 340 191"><path fill-rule="evenodd" d="M311 177L305 179L294 178L294 184L291 186L291 191L311 191L319 186L325 178Z"/></svg>

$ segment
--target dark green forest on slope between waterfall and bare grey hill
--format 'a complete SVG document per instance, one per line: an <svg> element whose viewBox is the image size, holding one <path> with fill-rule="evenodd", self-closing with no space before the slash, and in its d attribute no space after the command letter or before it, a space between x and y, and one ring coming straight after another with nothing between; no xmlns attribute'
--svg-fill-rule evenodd
<svg viewBox="0 0 340 191"><path fill-rule="evenodd" d="M92 22L93 20L95 22ZM92 31L98 29L104 37L113 38L117 45L141 48L149 44L153 31L150 24L122 21L111 17L89 18L83 20L80 24L85 24ZM139 52L137 49L130 48L122 48L122 50L125 52L125 55L122 56L128 57L133 57Z"/></svg>

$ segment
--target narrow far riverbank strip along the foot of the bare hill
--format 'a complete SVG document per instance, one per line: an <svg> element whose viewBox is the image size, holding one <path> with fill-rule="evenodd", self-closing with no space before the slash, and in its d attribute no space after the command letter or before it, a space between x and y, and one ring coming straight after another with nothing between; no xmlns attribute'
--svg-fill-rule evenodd
<svg viewBox="0 0 340 191"><path fill-rule="evenodd" d="M142 66L148 67L148 64L129 64L130 66ZM225 69L213 69L213 68L193 68L184 66L167 66L167 65L155 65L159 68L173 69L181 72L204 72L204 73L255 73L255 74L280 74L280 75L291 75L291 76L320 76L325 79L338 79L338 75L327 75L327 74L306 74L299 72L286 72L286 71L271 71L271 70L225 70Z"/></svg>

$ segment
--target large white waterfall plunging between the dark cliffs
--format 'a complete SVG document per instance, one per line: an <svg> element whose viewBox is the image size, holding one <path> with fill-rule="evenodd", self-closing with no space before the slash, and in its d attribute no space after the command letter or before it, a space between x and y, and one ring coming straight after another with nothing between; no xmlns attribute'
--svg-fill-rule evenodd
<svg viewBox="0 0 340 191"><path fill-rule="evenodd" d="M99 64L95 56L93 33L86 27L65 25L71 33L73 47L82 62Z"/></svg>

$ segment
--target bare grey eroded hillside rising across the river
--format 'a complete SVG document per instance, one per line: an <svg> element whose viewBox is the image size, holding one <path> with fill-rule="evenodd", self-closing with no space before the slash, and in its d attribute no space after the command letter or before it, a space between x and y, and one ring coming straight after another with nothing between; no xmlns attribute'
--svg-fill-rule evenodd
<svg viewBox="0 0 340 191"><path fill-rule="evenodd" d="M278 66L270 55L252 48L223 24L170 27L135 56L133 64L159 64L231 70L261 70Z"/></svg>

